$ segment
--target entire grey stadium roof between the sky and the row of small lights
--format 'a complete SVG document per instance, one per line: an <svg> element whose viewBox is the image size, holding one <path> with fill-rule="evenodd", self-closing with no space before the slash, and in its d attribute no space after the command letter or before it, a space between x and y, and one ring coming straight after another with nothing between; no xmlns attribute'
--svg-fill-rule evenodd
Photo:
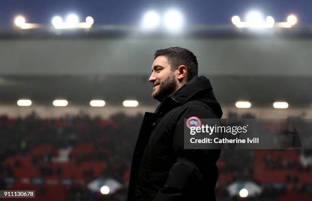
<svg viewBox="0 0 312 201"><path fill-rule="evenodd" d="M193 26L179 35L135 30L116 25L1 29L0 103L29 98L33 105L51 104L65 98L69 104L103 99L107 105L121 105L136 99L140 105L156 105L148 83L152 54L172 44L195 50L200 73L211 79L222 104L246 100L253 106L271 106L287 101L290 107L305 107L312 102L309 27L255 33L233 26ZM90 50L99 53L93 56Z"/></svg>

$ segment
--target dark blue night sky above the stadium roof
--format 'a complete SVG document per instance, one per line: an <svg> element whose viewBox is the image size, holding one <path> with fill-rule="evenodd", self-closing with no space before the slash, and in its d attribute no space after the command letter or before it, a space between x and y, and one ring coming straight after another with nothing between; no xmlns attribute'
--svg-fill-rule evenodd
<svg viewBox="0 0 312 201"><path fill-rule="evenodd" d="M285 21L293 13L299 24L312 24L311 0L214 0L214 1L106 1L106 0L1 0L0 25L10 26L16 15L22 14L30 23L50 24L55 15L65 17L76 13L81 21L92 16L95 24L137 24L145 11L154 9L160 14L169 8L180 10L188 24L230 24L233 15L244 16L249 10L262 11L275 21Z"/></svg>

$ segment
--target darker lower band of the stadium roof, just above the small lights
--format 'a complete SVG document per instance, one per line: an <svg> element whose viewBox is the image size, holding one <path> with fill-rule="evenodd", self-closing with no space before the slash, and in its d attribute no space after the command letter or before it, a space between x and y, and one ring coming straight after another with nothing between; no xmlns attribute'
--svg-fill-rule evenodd
<svg viewBox="0 0 312 201"><path fill-rule="evenodd" d="M206 77L223 106L243 100L253 106L271 107L275 101L287 101L290 107L309 107L312 100L311 77ZM157 105L151 90L147 75L1 76L0 104L16 104L18 99L27 98L33 105L50 105L54 99L63 98L71 105L88 105L92 99L105 100L107 106L121 106L126 99L138 100L140 105Z"/></svg>

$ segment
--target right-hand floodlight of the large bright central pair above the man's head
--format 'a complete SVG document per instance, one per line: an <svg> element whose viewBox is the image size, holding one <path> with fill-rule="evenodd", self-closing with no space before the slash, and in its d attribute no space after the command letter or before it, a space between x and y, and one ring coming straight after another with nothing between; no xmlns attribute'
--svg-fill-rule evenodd
<svg viewBox="0 0 312 201"><path fill-rule="evenodd" d="M179 31L184 23L183 15L177 10L167 11L164 20L166 28L172 32Z"/></svg>

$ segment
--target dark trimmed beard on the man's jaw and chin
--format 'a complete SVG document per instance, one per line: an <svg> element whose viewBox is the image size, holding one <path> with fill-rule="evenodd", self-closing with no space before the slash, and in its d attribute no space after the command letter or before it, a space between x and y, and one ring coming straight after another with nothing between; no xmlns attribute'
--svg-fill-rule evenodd
<svg viewBox="0 0 312 201"><path fill-rule="evenodd" d="M153 95L153 98L162 102L164 98L171 95L177 88L177 84L174 80L174 75L168 77L166 81L160 83L159 91L157 94Z"/></svg>

